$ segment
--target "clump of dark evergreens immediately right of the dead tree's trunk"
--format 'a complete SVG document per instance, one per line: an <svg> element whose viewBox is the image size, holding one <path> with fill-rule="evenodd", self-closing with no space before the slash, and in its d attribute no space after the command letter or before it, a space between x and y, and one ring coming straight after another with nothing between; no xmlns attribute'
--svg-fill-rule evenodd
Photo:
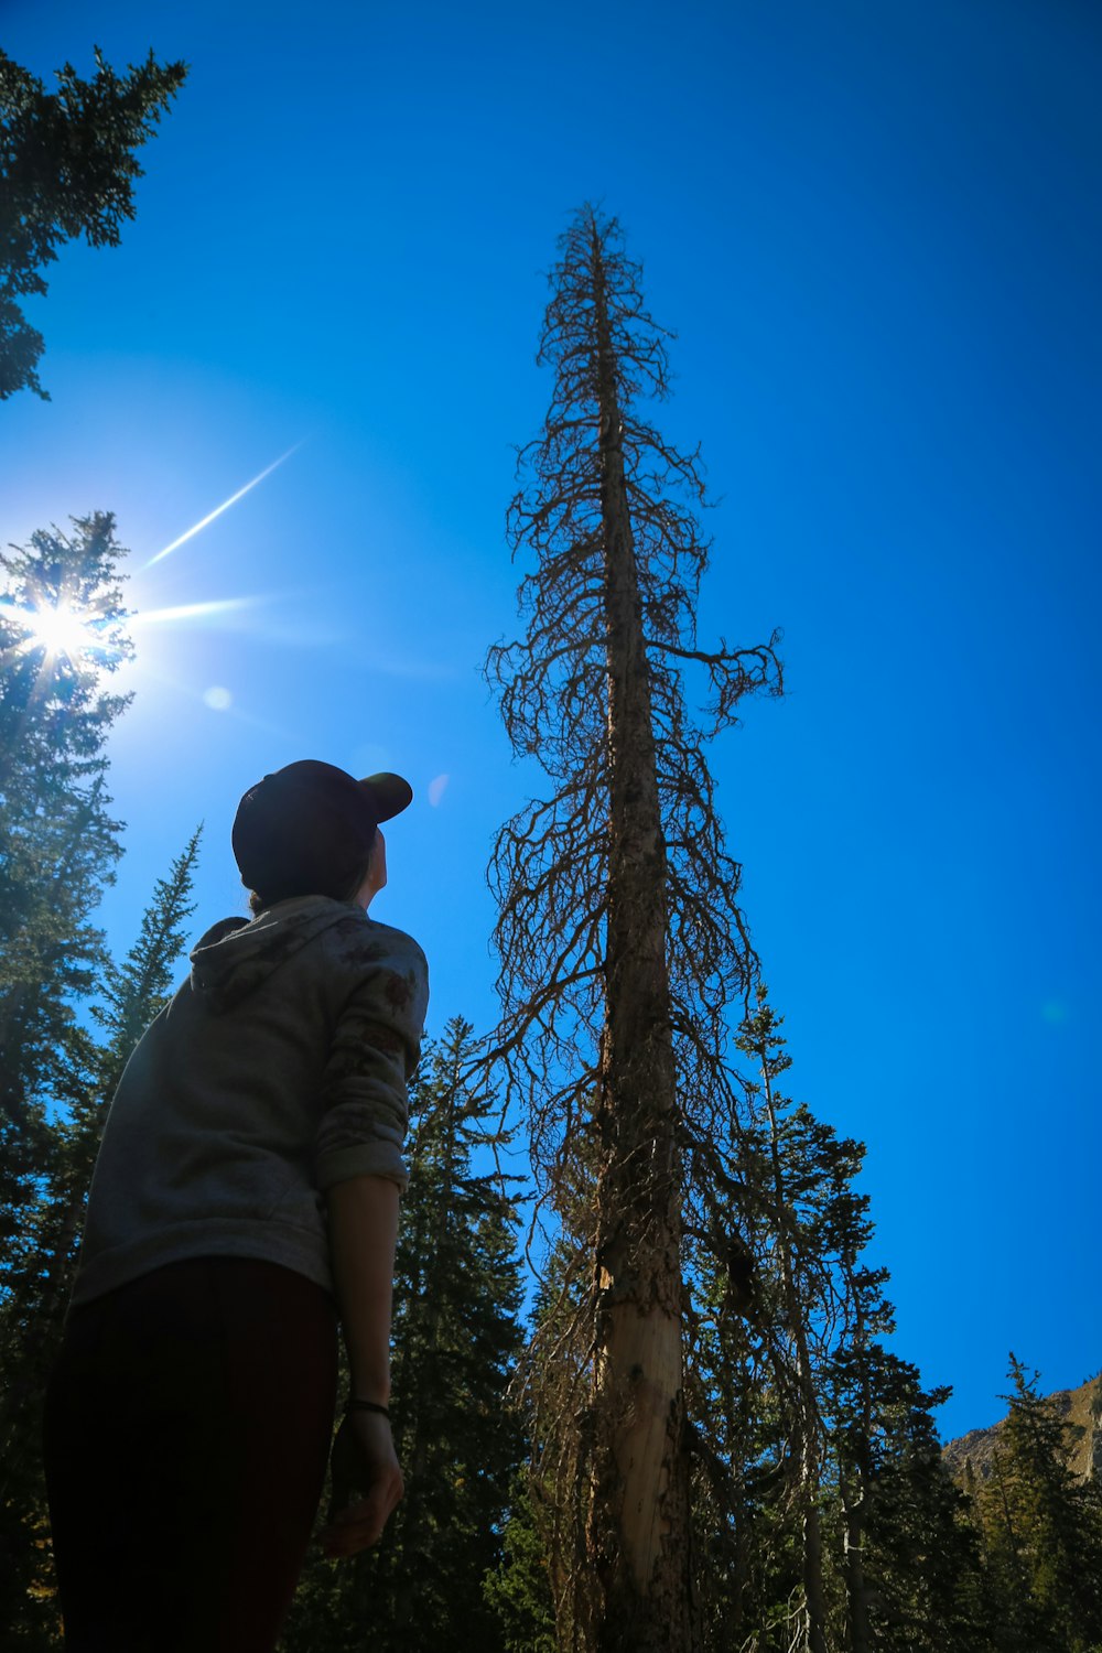
<svg viewBox="0 0 1102 1653"><path fill-rule="evenodd" d="M747 1106L715 1144L712 1225L692 1250L699 1645L750 1653L986 1648L967 1499L940 1461L915 1367L884 1349L862 1147L780 1088L765 988L739 1030Z"/></svg>

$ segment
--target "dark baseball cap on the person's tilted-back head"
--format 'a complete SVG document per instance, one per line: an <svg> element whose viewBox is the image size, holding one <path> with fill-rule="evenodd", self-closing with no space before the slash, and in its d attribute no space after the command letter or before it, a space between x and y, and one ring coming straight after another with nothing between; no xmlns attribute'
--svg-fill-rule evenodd
<svg viewBox="0 0 1102 1653"><path fill-rule="evenodd" d="M233 855L248 889L281 899L345 896L375 828L413 802L401 775L357 780L335 764L302 759L248 788L233 822Z"/></svg>

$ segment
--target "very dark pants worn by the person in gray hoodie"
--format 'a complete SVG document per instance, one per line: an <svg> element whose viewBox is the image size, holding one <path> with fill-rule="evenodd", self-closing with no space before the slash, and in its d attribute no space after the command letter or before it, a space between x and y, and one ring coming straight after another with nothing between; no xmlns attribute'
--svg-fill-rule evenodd
<svg viewBox="0 0 1102 1653"><path fill-rule="evenodd" d="M274 1263L173 1263L71 1311L45 1413L69 1653L269 1653L335 1385L334 1303Z"/></svg>

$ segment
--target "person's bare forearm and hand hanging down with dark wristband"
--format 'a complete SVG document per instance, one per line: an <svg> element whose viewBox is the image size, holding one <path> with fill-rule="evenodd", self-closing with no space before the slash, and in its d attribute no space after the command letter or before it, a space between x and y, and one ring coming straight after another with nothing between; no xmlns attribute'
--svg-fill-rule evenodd
<svg viewBox="0 0 1102 1653"><path fill-rule="evenodd" d="M390 1400L390 1312L398 1187L387 1177L350 1177L329 1190L329 1251L352 1395L387 1405ZM349 1441L354 1450L349 1453ZM345 1465L362 1501L334 1514L325 1534L330 1555L355 1555L375 1544L405 1491L390 1438L390 1423L373 1412L352 1412L337 1435ZM334 1489L337 1456L334 1455Z"/></svg>

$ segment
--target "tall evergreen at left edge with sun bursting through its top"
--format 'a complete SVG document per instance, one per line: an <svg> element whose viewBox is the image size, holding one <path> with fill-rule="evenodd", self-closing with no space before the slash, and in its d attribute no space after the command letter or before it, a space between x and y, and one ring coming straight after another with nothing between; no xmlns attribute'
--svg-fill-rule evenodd
<svg viewBox="0 0 1102 1653"><path fill-rule="evenodd" d="M0 554L0 1304L25 1273L23 1213L46 1164L46 1108L74 1083L74 1005L96 987L91 924L114 881L106 739L129 696L106 674L131 655L114 517L38 532Z"/></svg>

